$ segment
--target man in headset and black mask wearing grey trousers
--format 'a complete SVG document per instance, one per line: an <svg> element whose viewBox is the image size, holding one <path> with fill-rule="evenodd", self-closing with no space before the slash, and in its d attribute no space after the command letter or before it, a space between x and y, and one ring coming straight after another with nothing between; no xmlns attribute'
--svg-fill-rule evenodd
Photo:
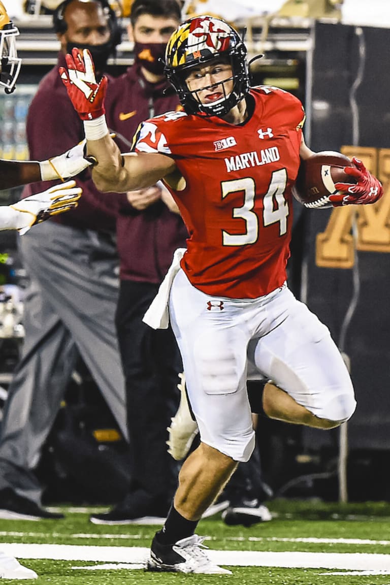
<svg viewBox="0 0 390 585"><path fill-rule="evenodd" d="M61 42L56 66L43 78L27 116L30 156L47 159L84 137L82 123L58 67L71 47L88 47L96 70L114 48L106 0L65 0L54 14ZM53 183L35 183L26 197ZM30 284L20 360L5 403L0 442L0 518L53 518L40 506L42 487L33 473L81 355L123 436L127 437L125 381L115 331L119 260L117 198L94 187L89 171L77 177L83 197L68 217L58 216L20 238Z"/></svg>

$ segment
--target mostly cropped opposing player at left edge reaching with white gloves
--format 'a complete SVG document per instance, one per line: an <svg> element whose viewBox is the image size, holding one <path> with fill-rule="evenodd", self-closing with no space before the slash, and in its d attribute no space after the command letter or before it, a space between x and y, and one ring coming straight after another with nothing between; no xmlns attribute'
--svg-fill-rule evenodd
<svg viewBox="0 0 390 585"><path fill-rule="evenodd" d="M0 1L0 87L7 94L15 90L19 75L19 59L15 38L19 30L9 19L6 9ZM49 181L73 177L90 166L84 159L84 144L78 144L60 156L42 162L0 160L0 189L18 187L36 181ZM77 207L81 188L75 187L75 181L54 185L50 189L26 197L13 205L0 207L0 229L19 230L25 233L35 223L40 223L51 215L56 215ZM37 574L20 565L15 558L0 550L1 579L36 579Z"/></svg>

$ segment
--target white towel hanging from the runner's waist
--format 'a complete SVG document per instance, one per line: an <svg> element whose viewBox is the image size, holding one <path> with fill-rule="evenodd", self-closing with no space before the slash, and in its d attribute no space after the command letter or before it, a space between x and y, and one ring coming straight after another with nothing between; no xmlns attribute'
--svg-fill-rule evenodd
<svg viewBox="0 0 390 585"><path fill-rule="evenodd" d="M180 269L180 260L184 256L185 248L178 248L175 250L171 266L168 268L167 274L163 282L158 288L156 297L146 313L142 321L153 329L167 329L169 325L169 295L173 279Z"/></svg>

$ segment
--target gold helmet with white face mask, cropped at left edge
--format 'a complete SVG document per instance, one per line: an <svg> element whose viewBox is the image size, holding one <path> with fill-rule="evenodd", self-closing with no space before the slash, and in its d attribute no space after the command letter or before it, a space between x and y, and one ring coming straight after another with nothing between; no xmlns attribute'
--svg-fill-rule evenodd
<svg viewBox="0 0 390 585"><path fill-rule="evenodd" d="M13 25L12 20L0 0L0 87L4 87L6 94L15 90L15 83L18 79L22 59L19 59L16 51L15 39L19 30Z"/></svg>

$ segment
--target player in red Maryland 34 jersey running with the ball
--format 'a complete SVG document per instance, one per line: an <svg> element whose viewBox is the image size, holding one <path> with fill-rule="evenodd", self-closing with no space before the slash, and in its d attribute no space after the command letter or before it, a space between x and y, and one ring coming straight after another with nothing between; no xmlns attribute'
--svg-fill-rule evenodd
<svg viewBox="0 0 390 585"><path fill-rule="evenodd" d="M329 330L286 284L291 188L300 160L313 154L302 136L303 107L278 88L250 88L246 53L223 20L200 16L178 27L165 73L184 112L144 122L134 152L124 155L109 136L105 82L94 81L88 53L74 49L60 70L97 161L96 187L123 192L163 180L190 234L161 285L153 307L160 312L149 311L147 321L166 325L165 294L201 437L154 536L154 571L230 573L210 562L195 528L254 448L249 366L270 380L262 401L268 417L330 429L356 407ZM381 197L382 185L364 167L355 178L344 204Z"/></svg>

